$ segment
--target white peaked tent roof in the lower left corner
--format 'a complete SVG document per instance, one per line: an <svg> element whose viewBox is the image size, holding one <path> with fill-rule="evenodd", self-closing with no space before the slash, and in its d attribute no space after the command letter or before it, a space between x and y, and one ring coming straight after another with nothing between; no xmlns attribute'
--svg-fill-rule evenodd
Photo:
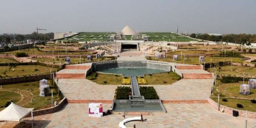
<svg viewBox="0 0 256 128"><path fill-rule="evenodd" d="M0 112L0 121L19 121L27 116L33 108L23 108L15 103L11 103L6 109Z"/></svg>

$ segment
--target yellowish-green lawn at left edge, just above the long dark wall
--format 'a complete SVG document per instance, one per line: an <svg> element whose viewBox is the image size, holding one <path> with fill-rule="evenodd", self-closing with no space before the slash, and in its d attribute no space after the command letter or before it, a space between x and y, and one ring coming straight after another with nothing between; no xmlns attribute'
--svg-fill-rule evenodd
<svg viewBox="0 0 256 128"><path fill-rule="evenodd" d="M13 71L14 69L14 71ZM38 71L35 71L35 70ZM50 73L51 67L44 67L39 65L28 65L28 66L16 66L9 69L8 66L0 66L0 75L2 78L6 77L16 77L16 76L26 76L26 75L38 75ZM53 71L57 70L53 68Z"/></svg>

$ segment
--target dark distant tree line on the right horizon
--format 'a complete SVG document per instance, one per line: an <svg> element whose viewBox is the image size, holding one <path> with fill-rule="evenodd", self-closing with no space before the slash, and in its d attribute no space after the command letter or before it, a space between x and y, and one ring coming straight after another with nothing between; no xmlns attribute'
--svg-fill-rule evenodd
<svg viewBox="0 0 256 128"><path fill-rule="evenodd" d="M256 34L224 34L221 36L208 35L204 34L195 34L192 33L189 35L192 38L198 38L209 41L224 41L224 42L233 42L236 44L246 44L256 43Z"/></svg>

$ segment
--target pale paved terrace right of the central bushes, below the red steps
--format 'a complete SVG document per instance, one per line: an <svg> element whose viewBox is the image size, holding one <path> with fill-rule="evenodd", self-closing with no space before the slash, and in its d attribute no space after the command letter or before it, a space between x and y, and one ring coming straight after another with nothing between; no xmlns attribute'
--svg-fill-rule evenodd
<svg viewBox="0 0 256 128"><path fill-rule="evenodd" d="M172 85L143 86L153 86L161 100L205 100L211 85L212 79L181 79Z"/></svg>

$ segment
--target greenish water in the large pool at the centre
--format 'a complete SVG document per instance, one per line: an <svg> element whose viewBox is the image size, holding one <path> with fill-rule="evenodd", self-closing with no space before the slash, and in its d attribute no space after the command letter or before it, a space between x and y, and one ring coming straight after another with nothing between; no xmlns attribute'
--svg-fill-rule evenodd
<svg viewBox="0 0 256 128"><path fill-rule="evenodd" d="M118 68L100 71L102 73L122 74L123 76L144 76L145 74L163 73L166 71L147 68Z"/></svg>

